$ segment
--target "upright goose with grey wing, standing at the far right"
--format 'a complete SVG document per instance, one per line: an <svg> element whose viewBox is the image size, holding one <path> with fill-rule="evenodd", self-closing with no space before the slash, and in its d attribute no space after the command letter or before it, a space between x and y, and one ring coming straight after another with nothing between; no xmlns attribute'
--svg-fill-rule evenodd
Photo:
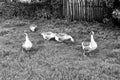
<svg viewBox="0 0 120 80"><path fill-rule="evenodd" d="M94 40L94 32L91 31L91 41L90 42L82 42L82 49L84 50L84 55L85 55L85 52L90 52L90 51L93 51L97 48L97 43L95 42Z"/></svg>

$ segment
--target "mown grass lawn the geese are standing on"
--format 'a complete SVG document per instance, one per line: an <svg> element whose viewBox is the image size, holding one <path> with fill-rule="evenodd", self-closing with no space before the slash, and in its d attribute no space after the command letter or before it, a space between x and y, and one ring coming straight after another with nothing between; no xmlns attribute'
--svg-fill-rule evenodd
<svg viewBox="0 0 120 80"><path fill-rule="evenodd" d="M31 32L29 25L38 25ZM24 31L33 43L30 53L22 51ZM65 32L74 43L46 41L43 31ZM98 49L82 55L81 42L95 32ZM98 22L65 20L0 20L0 80L120 80L120 28Z"/></svg>

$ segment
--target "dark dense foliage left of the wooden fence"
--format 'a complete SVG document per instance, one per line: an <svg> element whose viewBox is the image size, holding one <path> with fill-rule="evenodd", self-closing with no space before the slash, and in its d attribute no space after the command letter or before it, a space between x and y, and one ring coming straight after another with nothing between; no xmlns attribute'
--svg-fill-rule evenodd
<svg viewBox="0 0 120 80"><path fill-rule="evenodd" d="M27 19L39 19L51 17L61 17L60 0L46 0L43 3L3 3L1 5L1 16L4 18L22 17Z"/></svg>

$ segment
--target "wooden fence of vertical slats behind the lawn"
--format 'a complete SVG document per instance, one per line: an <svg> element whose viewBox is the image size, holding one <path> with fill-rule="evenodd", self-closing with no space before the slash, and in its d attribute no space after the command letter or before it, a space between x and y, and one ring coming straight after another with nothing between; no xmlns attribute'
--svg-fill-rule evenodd
<svg viewBox="0 0 120 80"><path fill-rule="evenodd" d="M62 0L63 15L69 20L101 20L105 13L103 0Z"/></svg>

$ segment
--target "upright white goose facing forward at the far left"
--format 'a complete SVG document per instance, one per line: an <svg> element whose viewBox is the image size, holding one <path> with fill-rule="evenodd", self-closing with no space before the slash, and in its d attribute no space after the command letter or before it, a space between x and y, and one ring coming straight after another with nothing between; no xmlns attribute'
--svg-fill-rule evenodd
<svg viewBox="0 0 120 80"><path fill-rule="evenodd" d="M29 51L29 50L31 50L33 44L30 41L28 34L27 33L24 33L24 34L25 34L25 42L23 43L22 48L26 51Z"/></svg>

